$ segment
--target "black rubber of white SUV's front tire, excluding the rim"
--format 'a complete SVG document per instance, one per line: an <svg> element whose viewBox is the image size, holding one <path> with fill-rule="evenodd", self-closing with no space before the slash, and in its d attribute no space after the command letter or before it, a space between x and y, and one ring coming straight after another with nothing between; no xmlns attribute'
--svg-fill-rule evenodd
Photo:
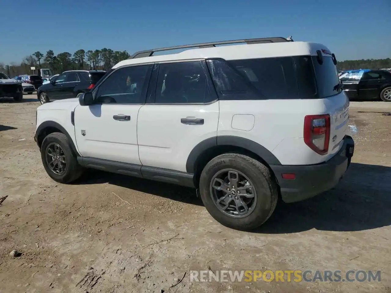
<svg viewBox="0 0 391 293"><path fill-rule="evenodd" d="M54 173L52 170L50 170L48 166L48 163L46 161L46 151L50 143L57 143L64 151L66 157L66 171L63 175L58 175ZM41 159L42 164L48 175L57 182L68 182L70 178L72 178L72 171L77 165L77 158L72 152L72 149L70 148L68 138L65 134L59 132L49 134L45 139L43 139L41 145Z"/></svg>

